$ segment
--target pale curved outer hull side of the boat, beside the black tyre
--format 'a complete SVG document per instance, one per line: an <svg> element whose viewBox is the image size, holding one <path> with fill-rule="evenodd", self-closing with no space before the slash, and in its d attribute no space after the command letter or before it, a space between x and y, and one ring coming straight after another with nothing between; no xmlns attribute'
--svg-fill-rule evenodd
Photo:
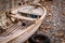
<svg viewBox="0 0 65 43"><path fill-rule="evenodd" d="M44 8L42 6L42 9ZM44 9L43 16L40 17L39 20L36 22L36 24L32 27L30 27L30 29L28 29L28 31L26 31L24 34L21 34L21 37L18 37L17 40L14 41L13 43L24 43L26 40L28 40L28 38L30 38L37 31L38 27L41 25L46 15L47 15L47 10Z"/></svg>

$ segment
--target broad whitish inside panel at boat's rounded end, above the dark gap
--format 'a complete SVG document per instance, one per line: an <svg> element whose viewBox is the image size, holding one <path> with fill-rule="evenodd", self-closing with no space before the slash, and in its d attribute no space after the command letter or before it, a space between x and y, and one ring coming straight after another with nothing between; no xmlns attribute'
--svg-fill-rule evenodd
<svg viewBox="0 0 65 43"><path fill-rule="evenodd" d="M22 8L17 8L16 10L12 10L13 14L18 14L18 12L34 14L34 15L42 15L43 10L41 8L35 9L32 5L23 5ZM41 13L40 13L41 12Z"/></svg>

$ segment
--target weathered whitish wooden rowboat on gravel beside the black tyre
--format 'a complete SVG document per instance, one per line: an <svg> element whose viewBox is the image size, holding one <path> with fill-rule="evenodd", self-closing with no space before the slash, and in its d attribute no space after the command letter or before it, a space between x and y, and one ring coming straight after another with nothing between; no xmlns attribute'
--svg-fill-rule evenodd
<svg viewBox="0 0 65 43"><path fill-rule="evenodd" d="M16 39L15 43L24 43L38 30L38 28L40 27L41 23L43 22L46 15L47 15L47 10L41 4L37 4L37 5L39 6L37 9L35 9L34 5L23 5L23 6L20 6L15 10L11 11L12 12L12 14L10 15L11 17L14 17L17 19L30 20L30 22L34 22L34 24L28 26L26 29L21 29L22 26L20 25L20 23L17 23L16 25L12 25L12 27L15 26L15 29L12 31L10 30L12 32L12 33L10 32L11 34L5 32L5 33L8 33L6 35L4 35L4 34L0 35L0 43L6 43L14 39ZM21 13L22 14L25 13L27 15L34 14L34 15L37 15L40 17L39 18L25 17L25 16L22 16ZM10 27L10 28L13 29L12 27ZM15 31L15 32L13 32L13 31Z"/></svg>

